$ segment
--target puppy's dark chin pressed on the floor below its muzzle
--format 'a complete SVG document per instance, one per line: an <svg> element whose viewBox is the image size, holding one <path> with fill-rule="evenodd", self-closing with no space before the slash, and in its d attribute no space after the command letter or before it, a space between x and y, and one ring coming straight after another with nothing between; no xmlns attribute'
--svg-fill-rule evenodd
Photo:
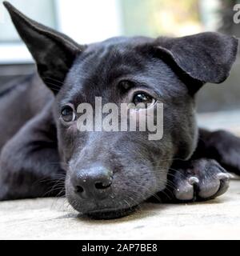
<svg viewBox="0 0 240 256"><path fill-rule="evenodd" d="M84 214L88 218L95 219L95 220L107 220L107 219L114 219L114 218L123 218L127 215L132 214L138 206L133 206L128 209L119 209L119 210L94 210L87 214Z"/></svg>

